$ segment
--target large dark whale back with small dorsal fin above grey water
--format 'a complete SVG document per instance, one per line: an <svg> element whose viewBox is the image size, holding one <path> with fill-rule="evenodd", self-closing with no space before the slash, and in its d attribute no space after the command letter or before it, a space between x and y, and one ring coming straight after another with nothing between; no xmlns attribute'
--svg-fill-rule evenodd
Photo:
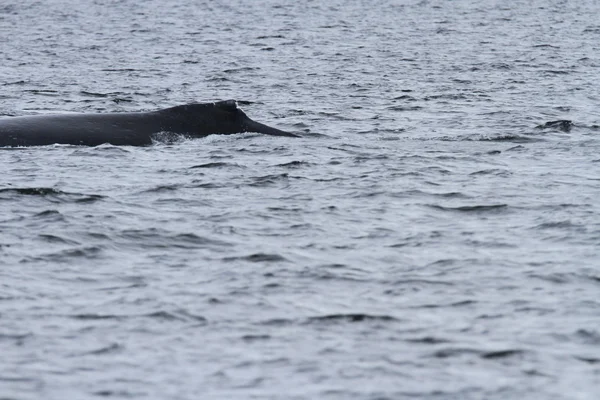
<svg viewBox="0 0 600 400"><path fill-rule="evenodd" d="M250 119L235 100L192 103L149 112L42 114L0 118L0 147L67 144L148 146L157 134L186 138L257 132L298 137Z"/></svg>

